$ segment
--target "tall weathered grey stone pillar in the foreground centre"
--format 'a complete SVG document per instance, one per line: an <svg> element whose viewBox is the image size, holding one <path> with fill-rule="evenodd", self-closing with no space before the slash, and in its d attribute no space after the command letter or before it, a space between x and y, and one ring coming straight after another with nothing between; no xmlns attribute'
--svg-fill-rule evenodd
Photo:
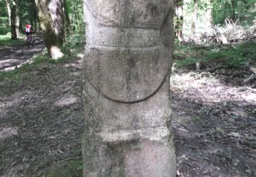
<svg viewBox="0 0 256 177"><path fill-rule="evenodd" d="M175 176L173 0L84 0L83 176Z"/></svg>

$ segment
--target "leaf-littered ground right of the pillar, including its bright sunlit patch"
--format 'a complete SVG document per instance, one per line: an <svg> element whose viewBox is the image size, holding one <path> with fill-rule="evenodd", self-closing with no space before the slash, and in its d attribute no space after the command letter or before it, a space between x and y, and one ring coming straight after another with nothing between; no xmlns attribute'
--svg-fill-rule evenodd
<svg viewBox="0 0 256 177"><path fill-rule="evenodd" d="M238 72L171 76L180 176L256 176L256 82Z"/></svg>

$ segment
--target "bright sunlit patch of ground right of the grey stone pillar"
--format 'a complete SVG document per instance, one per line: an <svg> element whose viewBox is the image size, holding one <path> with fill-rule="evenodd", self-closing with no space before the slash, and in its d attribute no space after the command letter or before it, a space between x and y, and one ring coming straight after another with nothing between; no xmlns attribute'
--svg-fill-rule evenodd
<svg viewBox="0 0 256 177"><path fill-rule="evenodd" d="M244 86L227 86L213 76L201 77L193 72L173 75L170 84L171 89L180 92L183 99L195 99L206 103L246 101L256 105L256 91L248 90Z"/></svg>

